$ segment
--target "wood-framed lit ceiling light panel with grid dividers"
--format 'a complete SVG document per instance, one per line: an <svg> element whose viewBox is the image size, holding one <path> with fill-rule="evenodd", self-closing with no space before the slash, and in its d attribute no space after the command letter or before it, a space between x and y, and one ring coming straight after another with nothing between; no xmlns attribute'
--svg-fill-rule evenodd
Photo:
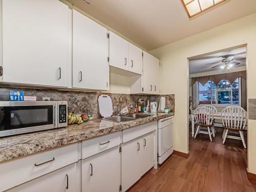
<svg viewBox="0 0 256 192"><path fill-rule="evenodd" d="M189 18L224 1L226 0L181 0Z"/></svg>

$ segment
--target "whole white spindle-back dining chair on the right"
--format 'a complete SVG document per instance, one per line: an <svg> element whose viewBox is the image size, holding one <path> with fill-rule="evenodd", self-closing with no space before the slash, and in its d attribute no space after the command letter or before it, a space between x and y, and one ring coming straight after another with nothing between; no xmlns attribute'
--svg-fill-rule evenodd
<svg viewBox="0 0 256 192"><path fill-rule="evenodd" d="M244 148L246 148L244 140L244 130L247 121L246 111L241 106L228 106L221 112L223 131L223 144L226 138L242 140ZM228 135L228 133L239 133L239 136Z"/></svg>

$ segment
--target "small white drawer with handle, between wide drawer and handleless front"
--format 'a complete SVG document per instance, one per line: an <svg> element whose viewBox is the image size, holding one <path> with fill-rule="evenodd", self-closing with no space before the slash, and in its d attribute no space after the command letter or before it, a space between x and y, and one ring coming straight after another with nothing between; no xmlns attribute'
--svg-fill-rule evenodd
<svg viewBox="0 0 256 192"><path fill-rule="evenodd" d="M103 135L82 141L82 159L117 146L121 143L121 132Z"/></svg>

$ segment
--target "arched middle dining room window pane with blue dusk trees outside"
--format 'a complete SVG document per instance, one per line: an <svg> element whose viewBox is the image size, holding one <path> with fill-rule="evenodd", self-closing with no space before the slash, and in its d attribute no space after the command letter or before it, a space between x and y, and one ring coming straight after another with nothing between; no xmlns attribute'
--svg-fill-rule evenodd
<svg viewBox="0 0 256 192"><path fill-rule="evenodd" d="M231 83L227 79L218 84L218 104L231 104Z"/></svg>

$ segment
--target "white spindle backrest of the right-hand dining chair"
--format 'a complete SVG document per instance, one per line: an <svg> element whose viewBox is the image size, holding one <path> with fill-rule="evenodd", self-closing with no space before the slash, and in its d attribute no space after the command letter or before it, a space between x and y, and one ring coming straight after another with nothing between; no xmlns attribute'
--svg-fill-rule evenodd
<svg viewBox="0 0 256 192"><path fill-rule="evenodd" d="M228 106L221 112L222 124L232 129L245 129L247 115L241 106Z"/></svg>

